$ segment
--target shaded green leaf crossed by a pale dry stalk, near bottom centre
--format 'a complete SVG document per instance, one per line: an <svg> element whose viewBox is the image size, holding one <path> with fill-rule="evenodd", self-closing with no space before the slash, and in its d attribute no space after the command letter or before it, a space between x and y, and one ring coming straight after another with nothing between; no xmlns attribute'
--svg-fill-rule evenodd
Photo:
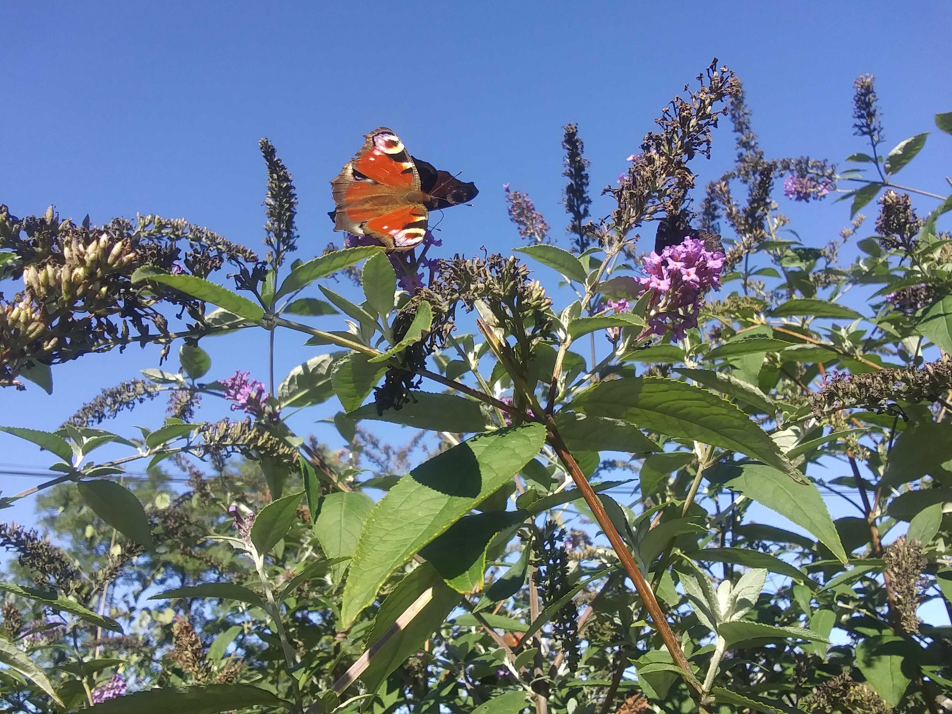
<svg viewBox="0 0 952 714"><path fill-rule="evenodd" d="M432 588L429 602L403 623L370 658L370 664L361 675L368 692L377 691L391 672L406 662L407 657L416 654L426 639L443 624L450 611L459 605L459 593L443 584L432 565L421 565L409 573L380 605L367 643L372 646L379 641L428 588Z"/></svg>

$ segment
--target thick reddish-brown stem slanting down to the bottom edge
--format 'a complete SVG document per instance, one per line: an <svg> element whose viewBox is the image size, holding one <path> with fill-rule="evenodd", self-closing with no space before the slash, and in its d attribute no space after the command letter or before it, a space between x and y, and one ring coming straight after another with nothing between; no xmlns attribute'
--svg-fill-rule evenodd
<svg viewBox="0 0 952 714"><path fill-rule="evenodd" d="M700 686L694 679L694 674L691 672L691 665L688 664L681 645L674 636L674 632L671 631L670 625L667 624L667 619L664 617L661 605L658 605L651 586L648 585L638 564L635 563L635 559L631 556L631 552L628 550L627 545L625 545L625 541L622 540L622 536L619 535L618 530L612 525L611 520L608 518L608 514L605 513L605 506L602 506L602 502L588 484L588 480L585 478L585 474L582 473L582 469L579 468L579 465L565 446L562 435L559 434L558 429L555 427L554 420L551 420L548 426L548 443L559 455L559 459L562 461L563 466L565 466L565 470L571 474L575 486L578 486L583 498L585 498L585 504L591 509L595 520L598 521L598 525L602 528L602 532L605 533L608 542L612 548L614 548L619 560L621 560L622 565L625 567L625 572L628 574L628 577L631 578L631 582L635 585L635 590L645 603L645 607L651 615L651 620L661 634L664 645L671 654L674 664L677 664L684 670L684 680L694 689L695 694L700 696Z"/></svg>

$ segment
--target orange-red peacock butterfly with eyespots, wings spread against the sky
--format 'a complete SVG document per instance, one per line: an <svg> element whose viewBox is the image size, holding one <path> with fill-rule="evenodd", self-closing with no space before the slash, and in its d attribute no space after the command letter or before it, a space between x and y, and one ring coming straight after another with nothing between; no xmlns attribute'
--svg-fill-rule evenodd
<svg viewBox="0 0 952 714"><path fill-rule="evenodd" d="M388 250L410 250L426 235L430 210L465 204L479 190L410 156L387 127L365 142L330 182L334 230L376 238Z"/></svg>

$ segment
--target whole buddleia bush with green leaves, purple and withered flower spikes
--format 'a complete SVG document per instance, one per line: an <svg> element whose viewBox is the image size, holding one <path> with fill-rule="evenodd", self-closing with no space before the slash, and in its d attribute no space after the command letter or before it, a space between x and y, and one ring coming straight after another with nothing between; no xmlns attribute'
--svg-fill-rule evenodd
<svg viewBox="0 0 952 714"><path fill-rule="evenodd" d="M884 150L872 77L853 109L847 168L772 157L712 63L601 195L567 125L565 230L506 185L507 255L427 233L296 257L267 140L264 258L185 220L0 207L18 399L163 346L58 428L3 426L50 457L3 506L39 492L52 535L0 525L6 710L952 708L924 614L952 610L952 197L896 183L929 132ZM808 245L788 201L844 201L845 228ZM241 331L273 358L277 330L314 354L280 381L206 351ZM206 421L216 398L235 413ZM108 430L155 399L162 424ZM345 449L288 426L333 400Z"/></svg>

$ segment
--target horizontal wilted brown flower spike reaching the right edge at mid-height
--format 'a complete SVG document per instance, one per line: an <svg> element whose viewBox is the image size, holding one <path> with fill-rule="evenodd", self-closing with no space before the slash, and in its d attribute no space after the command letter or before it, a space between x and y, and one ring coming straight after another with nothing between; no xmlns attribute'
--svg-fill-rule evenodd
<svg viewBox="0 0 952 714"><path fill-rule="evenodd" d="M865 407L883 410L890 402L936 402L952 387L952 356L922 369L880 369L865 374L833 374L810 398L814 415L831 409Z"/></svg>

